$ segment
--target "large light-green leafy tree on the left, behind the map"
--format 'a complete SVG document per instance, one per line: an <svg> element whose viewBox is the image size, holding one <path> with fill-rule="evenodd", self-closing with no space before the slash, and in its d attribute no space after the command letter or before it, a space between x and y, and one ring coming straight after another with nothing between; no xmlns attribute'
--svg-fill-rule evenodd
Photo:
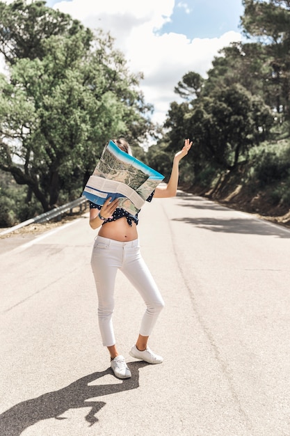
<svg viewBox="0 0 290 436"><path fill-rule="evenodd" d="M43 2L34 5L43 12ZM27 185L28 200L34 194L43 210L60 194L81 194L108 139L138 140L152 128L140 76L129 73L111 36L99 31L88 45L87 29L74 27L42 38L41 56L17 59L14 51L9 77L0 77L0 169Z"/></svg>

